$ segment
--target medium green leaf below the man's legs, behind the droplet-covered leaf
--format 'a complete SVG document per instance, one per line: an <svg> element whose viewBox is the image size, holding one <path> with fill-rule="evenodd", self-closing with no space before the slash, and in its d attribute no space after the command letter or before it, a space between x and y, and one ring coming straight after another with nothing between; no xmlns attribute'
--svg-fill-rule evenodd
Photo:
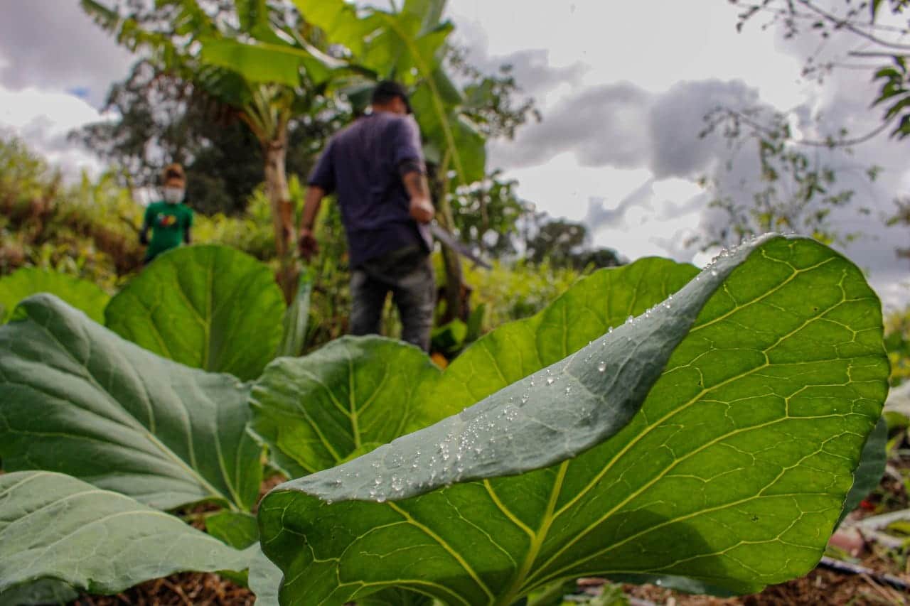
<svg viewBox="0 0 910 606"><path fill-rule="evenodd" d="M250 393L251 428L289 478L338 465L398 438L412 422L430 359L388 338L343 337L268 365Z"/></svg>

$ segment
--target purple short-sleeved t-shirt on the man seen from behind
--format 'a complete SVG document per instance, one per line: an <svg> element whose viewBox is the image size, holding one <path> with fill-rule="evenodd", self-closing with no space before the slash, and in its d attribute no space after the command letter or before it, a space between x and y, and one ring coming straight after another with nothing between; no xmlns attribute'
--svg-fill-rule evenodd
<svg viewBox="0 0 910 606"><path fill-rule="evenodd" d="M420 127L410 116L376 112L329 140L308 184L338 194L351 267L393 250L432 247L430 230L410 217L399 165L423 165Z"/></svg>

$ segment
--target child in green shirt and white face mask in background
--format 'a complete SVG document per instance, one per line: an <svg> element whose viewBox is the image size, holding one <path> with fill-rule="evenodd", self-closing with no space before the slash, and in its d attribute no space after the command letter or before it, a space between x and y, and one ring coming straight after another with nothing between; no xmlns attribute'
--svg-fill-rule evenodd
<svg viewBox="0 0 910 606"><path fill-rule="evenodd" d="M183 203L187 191L187 179L183 167L172 164L164 171L165 199L154 202L146 208L146 218L139 232L139 242L147 245L144 263L151 263L154 258L171 248L191 241L190 229L193 227L193 210ZM148 239L148 231L152 239Z"/></svg>

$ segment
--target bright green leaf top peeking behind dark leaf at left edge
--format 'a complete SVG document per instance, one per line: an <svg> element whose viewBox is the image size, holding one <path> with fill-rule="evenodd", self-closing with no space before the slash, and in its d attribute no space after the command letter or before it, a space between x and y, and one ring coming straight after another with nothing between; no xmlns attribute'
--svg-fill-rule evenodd
<svg viewBox="0 0 910 606"><path fill-rule="evenodd" d="M96 322L104 322L110 296L87 280L45 269L22 268L0 278L0 324L9 320L19 301L39 292L49 292Z"/></svg>

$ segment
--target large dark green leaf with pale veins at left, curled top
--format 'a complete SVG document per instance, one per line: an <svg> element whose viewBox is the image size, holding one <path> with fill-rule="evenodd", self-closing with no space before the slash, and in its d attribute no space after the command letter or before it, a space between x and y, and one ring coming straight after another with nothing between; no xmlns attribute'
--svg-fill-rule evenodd
<svg viewBox="0 0 910 606"><path fill-rule="evenodd" d="M157 263L157 261L156 261ZM50 295L0 327L0 458L159 509L258 497L248 386L136 347Z"/></svg>

